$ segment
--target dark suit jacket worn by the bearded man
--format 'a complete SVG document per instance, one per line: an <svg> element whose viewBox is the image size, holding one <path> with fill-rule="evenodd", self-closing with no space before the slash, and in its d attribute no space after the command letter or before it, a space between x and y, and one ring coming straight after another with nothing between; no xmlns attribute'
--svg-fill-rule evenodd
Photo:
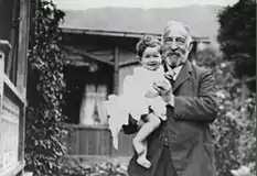
<svg viewBox="0 0 257 176"><path fill-rule="evenodd" d="M169 146L179 176L215 176L208 127L217 113L214 82L210 72L184 64L173 85L174 108L167 107L168 120L148 138L147 157L152 166L139 166L135 153L129 176L152 176L163 146Z"/></svg>

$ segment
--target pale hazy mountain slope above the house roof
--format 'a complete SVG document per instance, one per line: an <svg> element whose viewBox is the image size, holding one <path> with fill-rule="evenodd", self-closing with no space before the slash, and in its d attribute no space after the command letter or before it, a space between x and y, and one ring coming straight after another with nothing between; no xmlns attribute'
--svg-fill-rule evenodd
<svg viewBox="0 0 257 176"><path fill-rule="evenodd" d="M186 23L193 36L216 41L219 6L192 4L169 9L99 8L85 11L66 10L62 28L120 32L162 33L168 21Z"/></svg>

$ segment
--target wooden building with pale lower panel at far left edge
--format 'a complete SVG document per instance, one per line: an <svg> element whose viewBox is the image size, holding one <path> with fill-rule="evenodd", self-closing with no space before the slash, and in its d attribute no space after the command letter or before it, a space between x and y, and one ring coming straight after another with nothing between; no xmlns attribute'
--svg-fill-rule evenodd
<svg viewBox="0 0 257 176"><path fill-rule="evenodd" d="M24 175L30 0L0 0L0 176Z"/></svg>

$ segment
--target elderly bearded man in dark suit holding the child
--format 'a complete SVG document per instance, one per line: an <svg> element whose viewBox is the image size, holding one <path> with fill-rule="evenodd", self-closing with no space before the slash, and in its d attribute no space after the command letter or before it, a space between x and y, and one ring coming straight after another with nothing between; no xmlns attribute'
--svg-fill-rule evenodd
<svg viewBox="0 0 257 176"><path fill-rule="evenodd" d="M214 150L210 123L217 113L215 82L210 72L188 61L191 36L188 26L170 22L164 29L163 61L168 85L153 87L167 102L168 120L149 136L148 160L152 166L137 164L137 154L129 162L129 176L215 176ZM136 132L136 124L124 127ZM135 131L132 130L135 129Z"/></svg>

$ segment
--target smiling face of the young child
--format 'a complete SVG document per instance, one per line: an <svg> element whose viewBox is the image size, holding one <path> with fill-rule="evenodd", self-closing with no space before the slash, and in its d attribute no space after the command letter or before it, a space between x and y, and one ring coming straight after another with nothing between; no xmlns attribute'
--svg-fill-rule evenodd
<svg viewBox="0 0 257 176"><path fill-rule="evenodd" d="M158 47L147 47L142 53L141 64L144 68L156 70L161 65L161 54Z"/></svg>

